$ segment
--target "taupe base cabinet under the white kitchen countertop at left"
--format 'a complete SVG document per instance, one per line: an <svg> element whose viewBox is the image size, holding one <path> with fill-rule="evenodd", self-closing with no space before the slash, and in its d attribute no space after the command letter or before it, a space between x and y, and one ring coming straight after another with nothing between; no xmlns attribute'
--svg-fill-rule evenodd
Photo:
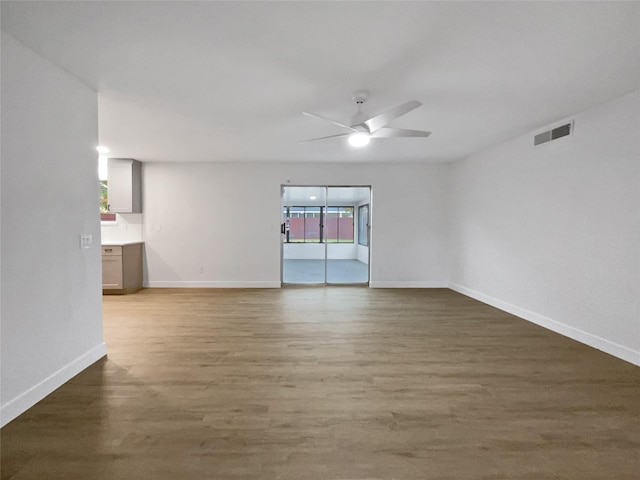
<svg viewBox="0 0 640 480"><path fill-rule="evenodd" d="M133 293L142 288L142 244L102 246L102 293Z"/></svg>

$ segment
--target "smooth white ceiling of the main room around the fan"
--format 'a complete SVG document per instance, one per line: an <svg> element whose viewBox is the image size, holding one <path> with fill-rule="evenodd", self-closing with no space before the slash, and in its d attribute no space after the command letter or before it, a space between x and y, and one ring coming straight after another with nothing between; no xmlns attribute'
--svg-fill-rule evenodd
<svg viewBox="0 0 640 480"><path fill-rule="evenodd" d="M640 88L640 2L9 2L2 29L99 92L142 161L450 161ZM352 92L427 139L355 150Z"/></svg>

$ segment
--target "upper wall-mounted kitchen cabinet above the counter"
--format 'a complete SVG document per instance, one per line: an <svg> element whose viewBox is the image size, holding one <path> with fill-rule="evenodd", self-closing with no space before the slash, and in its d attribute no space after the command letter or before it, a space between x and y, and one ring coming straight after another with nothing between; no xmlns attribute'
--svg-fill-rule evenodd
<svg viewBox="0 0 640 480"><path fill-rule="evenodd" d="M142 213L142 164L132 158L107 162L109 211Z"/></svg>

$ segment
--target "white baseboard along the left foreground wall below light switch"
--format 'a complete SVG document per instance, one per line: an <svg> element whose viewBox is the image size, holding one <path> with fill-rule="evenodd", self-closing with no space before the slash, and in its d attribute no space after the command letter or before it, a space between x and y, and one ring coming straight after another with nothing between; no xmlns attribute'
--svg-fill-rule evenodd
<svg viewBox="0 0 640 480"><path fill-rule="evenodd" d="M55 389L71 380L85 368L93 365L107 354L107 345L101 343L88 352L49 375L40 383L21 393L0 407L0 427L4 427L18 415L26 412Z"/></svg>

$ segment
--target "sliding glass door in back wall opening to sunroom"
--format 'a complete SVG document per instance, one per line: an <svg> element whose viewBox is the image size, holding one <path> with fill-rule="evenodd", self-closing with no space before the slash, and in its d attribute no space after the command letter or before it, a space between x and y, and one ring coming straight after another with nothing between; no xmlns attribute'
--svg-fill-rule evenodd
<svg viewBox="0 0 640 480"><path fill-rule="evenodd" d="M282 186L282 285L368 285L370 186Z"/></svg>

